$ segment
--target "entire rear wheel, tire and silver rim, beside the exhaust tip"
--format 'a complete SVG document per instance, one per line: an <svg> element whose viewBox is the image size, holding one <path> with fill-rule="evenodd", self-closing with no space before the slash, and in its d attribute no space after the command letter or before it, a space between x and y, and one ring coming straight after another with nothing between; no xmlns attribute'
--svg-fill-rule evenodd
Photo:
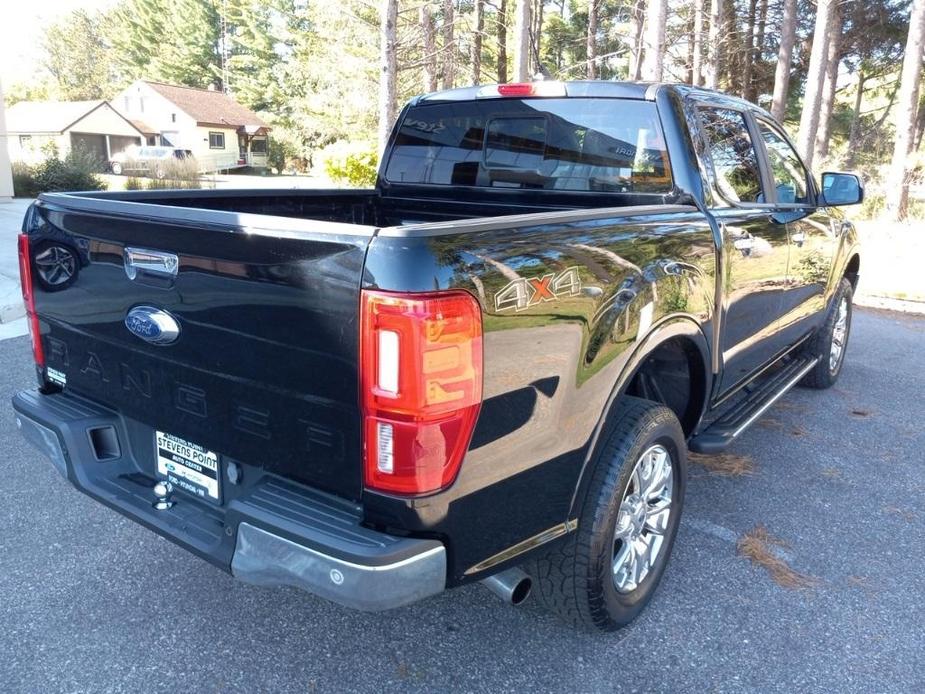
<svg viewBox="0 0 925 694"><path fill-rule="evenodd" d="M681 517L687 447L674 413L626 397L593 461L578 528L534 560L536 594L572 624L612 631L652 599Z"/></svg>

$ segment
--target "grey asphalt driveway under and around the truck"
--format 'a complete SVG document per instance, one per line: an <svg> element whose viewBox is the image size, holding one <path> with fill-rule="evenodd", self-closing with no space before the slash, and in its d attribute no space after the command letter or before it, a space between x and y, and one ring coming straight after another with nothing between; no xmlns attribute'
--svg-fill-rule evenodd
<svg viewBox="0 0 925 694"><path fill-rule="evenodd" d="M29 358L0 342L3 403ZM925 690L925 319L859 311L838 386L736 444L754 474L692 467L659 593L607 636L481 586L366 615L237 583L68 487L0 407L6 692ZM737 555L759 524L812 587Z"/></svg>

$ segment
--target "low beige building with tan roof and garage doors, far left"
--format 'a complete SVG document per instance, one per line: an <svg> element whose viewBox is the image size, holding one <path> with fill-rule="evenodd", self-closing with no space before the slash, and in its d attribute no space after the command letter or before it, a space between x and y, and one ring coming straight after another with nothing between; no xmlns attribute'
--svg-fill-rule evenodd
<svg viewBox="0 0 925 694"><path fill-rule="evenodd" d="M82 148L99 159L101 170L114 154L144 138L105 101L20 101L7 109L6 130L12 161L35 164L54 144L62 157Z"/></svg>

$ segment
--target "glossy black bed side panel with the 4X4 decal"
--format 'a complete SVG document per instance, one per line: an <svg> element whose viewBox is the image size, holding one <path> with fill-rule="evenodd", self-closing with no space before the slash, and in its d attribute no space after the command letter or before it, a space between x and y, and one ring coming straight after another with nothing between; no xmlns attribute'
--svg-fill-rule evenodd
<svg viewBox="0 0 925 694"><path fill-rule="evenodd" d="M681 318L709 336L710 228L692 208L627 208L383 230L365 287L465 289L484 326L484 404L456 482L367 518L449 545L450 581L477 578L572 527L590 442L637 345Z"/></svg>

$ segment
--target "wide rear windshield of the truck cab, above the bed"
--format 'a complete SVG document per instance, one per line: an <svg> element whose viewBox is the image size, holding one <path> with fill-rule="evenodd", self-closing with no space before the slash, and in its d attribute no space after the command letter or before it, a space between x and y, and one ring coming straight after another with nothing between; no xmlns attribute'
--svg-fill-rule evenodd
<svg viewBox="0 0 925 694"><path fill-rule="evenodd" d="M413 107L386 167L392 183L669 193L651 102L485 99Z"/></svg>

